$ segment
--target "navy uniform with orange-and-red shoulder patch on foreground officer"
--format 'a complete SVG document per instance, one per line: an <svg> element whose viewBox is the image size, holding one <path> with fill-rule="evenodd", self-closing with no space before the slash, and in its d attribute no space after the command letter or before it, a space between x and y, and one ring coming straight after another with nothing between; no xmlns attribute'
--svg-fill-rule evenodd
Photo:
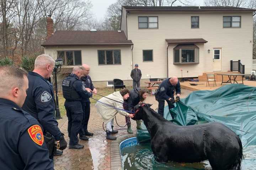
<svg viewBox="0 0 256 170"><path fill-rule="evenodd" d="M4 98L0 98L0 129L1 170L53 170L38 121Z"/></svg>

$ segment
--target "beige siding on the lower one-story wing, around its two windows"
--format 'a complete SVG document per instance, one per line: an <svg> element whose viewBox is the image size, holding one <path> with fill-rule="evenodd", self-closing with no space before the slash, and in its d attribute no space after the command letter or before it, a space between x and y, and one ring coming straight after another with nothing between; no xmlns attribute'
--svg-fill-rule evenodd
<svg viewBox="0 0 256 170"><path fill-rule="evenodd" d="M81 46L81 47L47 47L44 53L57 57L57 51L81 50L82 63L88 64L92 81L112 81L113 79L131 80L132 50L131 46ZM97 50L121 50L121 64L98 65ZM67 66L66 66L67 67ZM68 66L74 67L74 66Z"/></svg>

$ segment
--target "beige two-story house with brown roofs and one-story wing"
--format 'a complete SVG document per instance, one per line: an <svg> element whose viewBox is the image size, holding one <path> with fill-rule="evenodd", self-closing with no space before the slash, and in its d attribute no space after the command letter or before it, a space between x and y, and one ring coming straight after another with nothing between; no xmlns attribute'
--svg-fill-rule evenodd
<svg viewBox="0 0 256 170"><path fill-rule="evenodd" d="M77 55L81 61L73 64L89 64L92 81L99 86L111 84L114 78L131 85L130 70L135 63L142 70L142 82L228 72L231 60L240 60L245 74L250 74L254 11L239 7L123 6L121 32L57 31L42 46L55 58L64 55L66 65L69 58L76 60L75 51L80 51ZM73 51L72 57L67 51ZM114 63L115 51L119 51L121 62Z"/></svg>

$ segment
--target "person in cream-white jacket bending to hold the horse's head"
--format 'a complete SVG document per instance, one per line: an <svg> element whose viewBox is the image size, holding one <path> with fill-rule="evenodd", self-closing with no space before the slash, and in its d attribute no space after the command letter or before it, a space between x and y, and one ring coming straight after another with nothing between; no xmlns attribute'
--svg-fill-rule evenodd
<svg viewBox="0 0 256 170"><path fill-rule="evenodd" d="M123 89L121 91L113 92L112 94L106 97L102 97L100 100L98 100L95 106L97 108L97 113L100 114L101 118L106 124L106 133L107 133L106 138L110 140L116 140L116 137L112 135L112 134L118 133L117 130L113 130L114 117L116 116L116 114L119 113L126 117L133 118L132 114L129 114L126 111L120 110L120 109L124 109L123 108L124 100L127 100L127 98L129 98L129 90Z"/></svg>

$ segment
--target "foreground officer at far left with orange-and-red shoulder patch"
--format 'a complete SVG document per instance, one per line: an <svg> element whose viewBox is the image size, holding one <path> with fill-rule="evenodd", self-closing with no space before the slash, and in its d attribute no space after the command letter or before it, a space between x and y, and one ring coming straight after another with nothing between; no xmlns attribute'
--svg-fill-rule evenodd
<svg viewBox="0 0 256 170"><path fill-rule="evenodd" d="M28 89L27 73L1 66L0 81L0 169L53 170L40 124L21 109Z"/></svg>

